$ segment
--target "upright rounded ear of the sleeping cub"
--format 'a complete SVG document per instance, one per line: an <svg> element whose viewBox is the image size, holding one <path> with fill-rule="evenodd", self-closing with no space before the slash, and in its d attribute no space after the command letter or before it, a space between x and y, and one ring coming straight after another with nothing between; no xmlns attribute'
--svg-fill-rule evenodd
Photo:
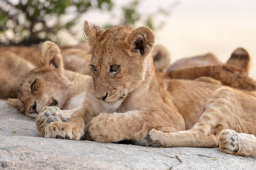
<svg viewBox="0 0 256 170"><path fill-rule="evenodd" d="M54 67L63 70L63 57L60 48L53 42L46 41L41 45L39 67Z"/></svg>

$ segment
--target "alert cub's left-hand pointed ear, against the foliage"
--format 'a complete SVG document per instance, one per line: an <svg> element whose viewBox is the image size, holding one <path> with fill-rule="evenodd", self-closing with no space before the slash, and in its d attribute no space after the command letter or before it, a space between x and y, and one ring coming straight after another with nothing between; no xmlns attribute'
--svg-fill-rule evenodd
<svg viewBox="0 0 256 170"><path fill-rule="evenodd" d="M104 31L104 29L100 28L100 26L97 26L93 23L89 23L85 20L84 23L84 34L85 38L88 39L90 47L94 47L97 44L97 38L101 33Z"/></svg>

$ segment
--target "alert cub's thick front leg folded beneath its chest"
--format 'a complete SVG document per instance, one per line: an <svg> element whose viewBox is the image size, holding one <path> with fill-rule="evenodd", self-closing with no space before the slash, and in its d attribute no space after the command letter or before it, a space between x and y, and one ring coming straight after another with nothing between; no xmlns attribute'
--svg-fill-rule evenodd
<svg viewBox="0 0 256 170"><path fill-rule="evenodd" d="M141 111L101 113L90 122L88 132L96 142L139 141L146 137L149 126Z"/></svg>

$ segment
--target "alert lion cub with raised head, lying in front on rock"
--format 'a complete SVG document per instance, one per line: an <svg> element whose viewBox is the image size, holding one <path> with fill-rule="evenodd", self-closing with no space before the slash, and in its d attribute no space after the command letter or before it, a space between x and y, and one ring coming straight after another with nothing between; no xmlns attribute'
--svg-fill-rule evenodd
<svg viewBox="0 0 256 170"><path fill-rule="evenodd" d="M85 35L92 47L92 79L84 84L82 108L71 111L68 121L65 111L43 108L36 119L41 135L153 147L220 145L230 154L255 154L255 94L201 81L164 84L151 57L149 28L104 30L85 21Z"/></svg>

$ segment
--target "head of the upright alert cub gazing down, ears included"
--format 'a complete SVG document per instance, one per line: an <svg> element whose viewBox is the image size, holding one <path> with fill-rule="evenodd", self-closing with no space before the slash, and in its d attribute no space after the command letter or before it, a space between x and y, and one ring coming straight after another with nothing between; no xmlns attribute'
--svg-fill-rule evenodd
<svg viewBox="0 0 256 170"><path fill-rule="evenodd" d="M154 34L149 28L115 26L104 30L85 21L91 46L92 79L96 97L106 106L118 108L130 92L147 79L153 66Z"/></svg>

